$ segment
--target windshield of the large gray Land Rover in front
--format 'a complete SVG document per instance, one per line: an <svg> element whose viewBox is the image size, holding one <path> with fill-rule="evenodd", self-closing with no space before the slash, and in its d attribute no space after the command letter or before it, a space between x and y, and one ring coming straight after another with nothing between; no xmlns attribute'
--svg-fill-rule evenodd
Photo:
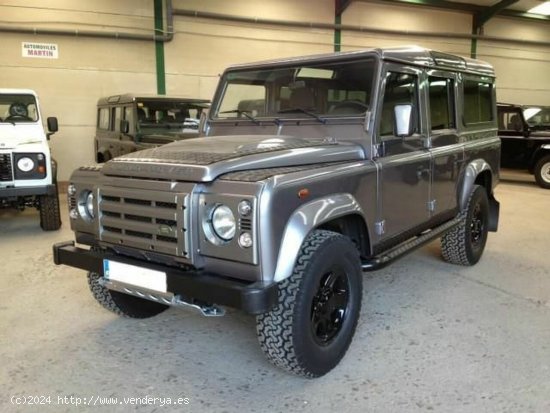
<svg viewBox="0 0 550 413"><path fill-rule="evenodd" d="M360 116L369 107L374 59L231 71L216 119Z"/></svg>

